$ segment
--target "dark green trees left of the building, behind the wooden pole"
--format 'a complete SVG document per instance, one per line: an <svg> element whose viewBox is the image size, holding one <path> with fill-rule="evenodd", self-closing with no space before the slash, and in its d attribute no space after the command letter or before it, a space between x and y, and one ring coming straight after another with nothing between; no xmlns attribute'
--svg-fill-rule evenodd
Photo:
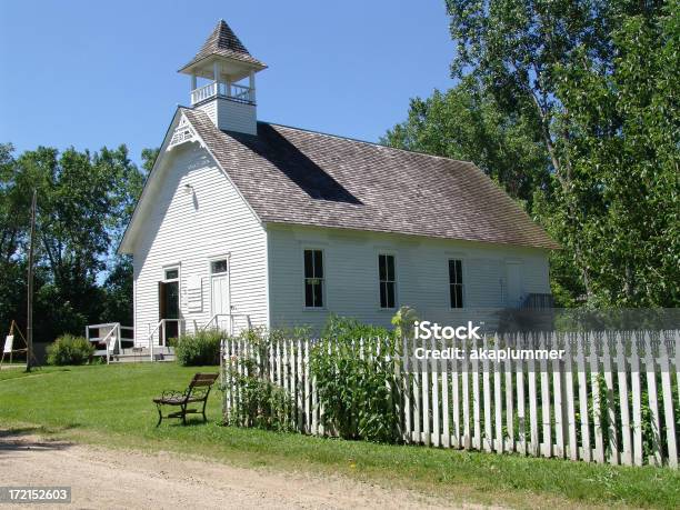
<svg viewBox="0 0 680 510"><path fill-rule="evenodd" d="M88 321L131 308L129 261L114 249L142 184L124 146L59 153L39 147L14 158L0 146L0 323L26 317L26 258L32 190L36 230L36 339L81 333ZM111 287L102 287L109 269Z"/></svg>

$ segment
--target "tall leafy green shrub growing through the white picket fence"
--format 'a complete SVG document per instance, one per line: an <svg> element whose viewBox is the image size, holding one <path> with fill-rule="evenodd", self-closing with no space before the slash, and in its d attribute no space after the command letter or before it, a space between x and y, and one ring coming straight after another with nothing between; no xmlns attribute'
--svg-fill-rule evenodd
<svg viewBox="0 0 680 510"><path fill-rule="evenodd" d="M386 329L331 317L311 351L324 427L344 439L400 441L401 358L394 338Z"/></svg>

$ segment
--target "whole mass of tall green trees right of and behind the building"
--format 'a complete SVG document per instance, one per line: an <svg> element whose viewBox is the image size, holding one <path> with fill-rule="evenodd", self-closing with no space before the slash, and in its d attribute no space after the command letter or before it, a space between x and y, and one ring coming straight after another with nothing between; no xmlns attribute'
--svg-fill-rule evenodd
<svg viewBox="0 0 680 510"><path fill-rule="evenodd" d="M558 302L678 306L679 7L447 0L459 82L386 142L472 160L526 203L563 247Z"/></svg>

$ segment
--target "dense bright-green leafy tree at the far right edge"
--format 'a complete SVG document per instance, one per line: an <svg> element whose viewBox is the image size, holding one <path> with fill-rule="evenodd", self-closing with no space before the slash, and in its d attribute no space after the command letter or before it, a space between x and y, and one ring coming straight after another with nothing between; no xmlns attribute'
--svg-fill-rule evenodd
<svg viewBox="0 0 680 510"><path fill-rule="evenodd" d="M679 7L626 16L612 32L610 72L582 48L556 72L558 150L574 186L554 187L544 217L562 233L578 199L596 304L680 302Z"/></svg>

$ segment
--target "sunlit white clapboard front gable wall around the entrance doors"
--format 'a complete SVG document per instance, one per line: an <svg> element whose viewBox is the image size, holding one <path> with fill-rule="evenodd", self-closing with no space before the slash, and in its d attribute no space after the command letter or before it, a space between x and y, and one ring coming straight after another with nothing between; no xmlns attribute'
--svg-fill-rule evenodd
<svg viewBox="0 0 680 510"><path fill-rule="evenodd" d="M160 189L143 219L134 248L136 343L144 346L149 324L158 322L158 282L162 269L180 264L180 314L189 330L211 317L209 259L229 254L234 313L267 326L267 234L258 219L209 153L188 143L166 154ZM190 184L193 193L188 193ZM202 279L202 309L190 311L187 283ZM152 326L153 327L153 326Z"/></svg>

